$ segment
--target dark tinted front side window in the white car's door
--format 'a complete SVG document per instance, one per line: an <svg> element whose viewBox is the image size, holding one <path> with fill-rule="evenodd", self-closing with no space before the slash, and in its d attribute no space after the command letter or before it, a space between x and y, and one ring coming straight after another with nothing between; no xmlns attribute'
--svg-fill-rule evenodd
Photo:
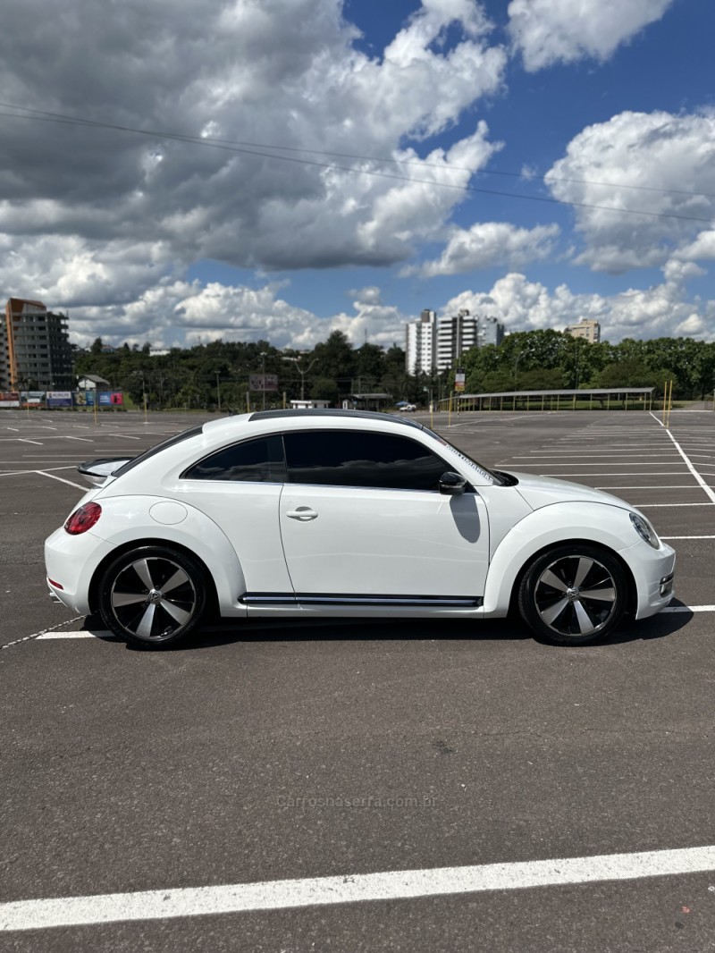
<svg viewBox="0 0 715 953"><path fill-rule="evenodd" d="M417 440L361 431L284 434L288 480L326 486L437 490L449 467Z"/></svg>

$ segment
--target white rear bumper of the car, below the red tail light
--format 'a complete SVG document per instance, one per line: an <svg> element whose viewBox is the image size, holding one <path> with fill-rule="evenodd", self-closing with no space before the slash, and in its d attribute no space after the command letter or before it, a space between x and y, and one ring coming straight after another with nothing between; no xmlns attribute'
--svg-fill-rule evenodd
<svg viewBox="0 0 715 953"><path fill-rule="evenodd" d="M45 569L51 598L81 616L90 614L90 585L99 563L114 547L91 532L71 536L55 530L45 540Z"/></svg>

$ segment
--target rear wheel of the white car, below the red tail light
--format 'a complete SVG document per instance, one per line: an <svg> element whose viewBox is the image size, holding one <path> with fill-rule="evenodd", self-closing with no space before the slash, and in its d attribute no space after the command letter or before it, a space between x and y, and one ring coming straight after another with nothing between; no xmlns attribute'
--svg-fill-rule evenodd
<svg viewBox="0 0 715 953"><path fill-rule="evenodd" d="M142 648L175 645L204 617L206 571L168 546L139 546L113 560L99 583L99 614L120 639Z"/></svg>

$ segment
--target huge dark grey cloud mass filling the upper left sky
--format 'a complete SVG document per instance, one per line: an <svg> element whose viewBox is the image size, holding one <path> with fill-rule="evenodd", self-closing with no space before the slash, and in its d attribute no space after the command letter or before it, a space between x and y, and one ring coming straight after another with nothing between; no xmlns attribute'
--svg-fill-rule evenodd
<svg viewBox="0 0 715 953"><path fill-rule="evenodd" d="M97 259L122 240L160 245L179 265L403 260L496 148L483 124L449 152L403 143L497 91L506 52L472 0L425 0L376 57L341 11L339 0L67 0L49 17L44 0L8 0L4 99L157 132L3 118L0 232L90 240Z"/></svg>

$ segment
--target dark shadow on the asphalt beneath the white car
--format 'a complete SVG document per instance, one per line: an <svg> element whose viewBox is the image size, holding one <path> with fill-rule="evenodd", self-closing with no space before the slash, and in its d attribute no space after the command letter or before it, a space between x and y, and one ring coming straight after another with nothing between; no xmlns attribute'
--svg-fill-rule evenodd
<svg viewBox="0 0 715 953"><path fill-rule="evenodd" d="M679 606L675 602L674 606ZM682 612L661 613L635 621L626 618L608 639L582 646L621 645L625 642L665 639L680 632L693 618L683 606ZM101 629L96 618L85 620L86 629ZM545 639L540 639L521 622L520 618L473 619L379 619L379 618L264 618L226 619L204 625L184 642L167 646L162 651L195 652L235 642L285 641L527 641L534 639L558 650ZM126 646L129 651L147 649ZM579 648L581 646L570 646ZM148 647L152 651L152 647Z"/></svg>

